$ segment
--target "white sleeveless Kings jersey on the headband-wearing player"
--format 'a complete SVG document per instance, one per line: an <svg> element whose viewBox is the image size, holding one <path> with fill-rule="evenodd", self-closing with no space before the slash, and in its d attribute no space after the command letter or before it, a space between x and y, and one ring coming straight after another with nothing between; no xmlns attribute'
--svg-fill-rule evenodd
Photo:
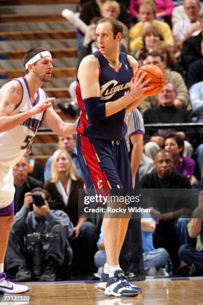
<svg viewBox="0 0 203 305"><path fill-rule="evenodd" d="M15 79L22 88L22 99L14 110L14 115L31 110L40 100L47 98L46 93L39 88L34 104L30 100L30 92L25 77ZM36 114L13 129L0 133L0 163L14 166L34 140L38 128L41 126L45 111Z"/></svg>

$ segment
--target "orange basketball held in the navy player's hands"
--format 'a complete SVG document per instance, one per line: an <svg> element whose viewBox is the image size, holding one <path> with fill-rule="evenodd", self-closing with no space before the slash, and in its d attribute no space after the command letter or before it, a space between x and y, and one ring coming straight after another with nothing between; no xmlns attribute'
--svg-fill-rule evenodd
<svg viewBox="0 0 203 305"><path fill-rule="evenodd" d="M164 72L157 66L154 65L143 65L134 74L133 79L135 79L137 72L143 71L141 75L144 72L147 72L147 75L144 77L143 81L146 81L149 77L151 77L151 81L147 84L147 87L154 85L153 88L145 91L143 94L147 96L153 96L158 94L162 91L164 85L165 85L165 75Z"/></svg>

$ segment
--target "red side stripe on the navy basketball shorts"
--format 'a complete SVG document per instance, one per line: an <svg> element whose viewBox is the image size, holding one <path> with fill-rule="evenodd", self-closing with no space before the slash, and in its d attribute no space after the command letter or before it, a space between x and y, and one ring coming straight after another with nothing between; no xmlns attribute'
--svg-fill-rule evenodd
<svg viewBox="0 0 203 305"><path fill-rule="evenodd" d="M97 151L94 145L92 145L90 143L90 140L85 136L81 136L81 151L85 158L86 164L90 171L90 177L93 181L93 184L95 185L95 188L97 189L97 192L104 194L103 189L109 190L109 186L106 182L107 177L105 172L102 172L102 169L96 156Z"/></svg>

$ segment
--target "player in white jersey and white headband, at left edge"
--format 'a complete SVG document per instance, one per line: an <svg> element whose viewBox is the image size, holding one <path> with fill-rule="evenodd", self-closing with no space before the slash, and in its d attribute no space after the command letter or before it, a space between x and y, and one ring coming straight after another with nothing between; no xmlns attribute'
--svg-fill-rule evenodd
<svg viewBox="0 0 203 305"><path fill-rule="evenodd" d="M52 57L44 48L30 49L24 56L25 76L12 79L0 89L0 294L23 293L29 288L9 281L3 272L13 216L14 166L32 144L42 121L58 136L76 133L76 124L64 123L53 110L55 98L40 88L49 82Z"/></svg>

